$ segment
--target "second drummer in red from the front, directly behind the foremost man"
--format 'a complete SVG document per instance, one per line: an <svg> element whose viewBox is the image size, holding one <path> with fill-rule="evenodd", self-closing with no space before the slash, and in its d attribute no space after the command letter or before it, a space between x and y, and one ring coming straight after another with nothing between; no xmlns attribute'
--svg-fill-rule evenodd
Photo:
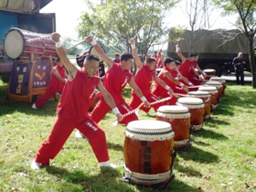
<svg viewBox="0 0 256 192"><path fill-rule="evenodd" d="M89 42L92 42L93 37L88 37L87 40ZM133 73L130 72L130 69L132 69L134 64L133 55L131 53L123 53L121 55L120 63L114 63L112 59L106 56L105 52L98 44L93 45L93 47L109 67L103 80L103 86L107 91L111 93L113 100L115 101L115 104L119 111L122 112L122 114L132 111L132 108L124 101L122 94L122 91L127 83L132 87L135 94L139 98L141 98L141 101L144 102L144 106L146 108L149 108L150 103L146 100L143 92L136 85L133 79ZM91 112L91 118L96 123L99 123L101 119L103 119L105 114L110 110L111 108L107 105L106 101L104 101L100 96L100 101L96 104L93 111ZM130 115L124 117L123 121L120 121L118 123L127 125L128 123L135 120L138 120L137 115L131 113Z"/></svg>

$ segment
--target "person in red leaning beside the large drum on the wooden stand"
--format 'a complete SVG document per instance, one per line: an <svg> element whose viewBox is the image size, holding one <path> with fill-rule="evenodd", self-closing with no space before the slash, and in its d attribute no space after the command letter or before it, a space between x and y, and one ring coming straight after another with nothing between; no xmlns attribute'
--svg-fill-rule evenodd
<svg viewBox="0 0 256 192"><path fill-rule="evenodd" d="M66 69L63 67L63 63L59 58L56 60L56 66L51 70L50 80L48 83L47 90L39 99L32 105L33 109L41 108L53 94L58 93L61 95L64 85L67 81L68 74Z"/></svg>

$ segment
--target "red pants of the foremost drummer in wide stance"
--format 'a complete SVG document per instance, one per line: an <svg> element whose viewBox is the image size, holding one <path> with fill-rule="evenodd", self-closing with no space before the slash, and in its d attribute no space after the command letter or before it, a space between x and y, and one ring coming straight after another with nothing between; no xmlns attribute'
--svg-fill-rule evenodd
<svg viewBox="0 0 256 192"><path fill-rule="evenodd" d="M35 158L36 162L42 165L49 165L49 160L58 155L74 128L77 128L80 133L88 138L98 162L109 160L105 133L97 123L94 123L90 117L86 117L83 121L75 123L71 118L63 115L63 112L60 111L59 117L57 118L48 139L37 151L37 156Z"/></svg>

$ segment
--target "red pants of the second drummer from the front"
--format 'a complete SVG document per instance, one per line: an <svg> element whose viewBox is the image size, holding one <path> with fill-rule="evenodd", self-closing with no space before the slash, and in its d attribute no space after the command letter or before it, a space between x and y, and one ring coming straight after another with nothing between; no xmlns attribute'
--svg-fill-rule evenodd
<svg viewBox="0 0 256 192"><path fill-rule="evenodd" d="M132 108L126 102L115 101L115 104L119 112L121 112L122 114L132 111ZM96 104L93 111L91 112L91 119L94 122L99 123L101 119L104 118L106 113L110 112L111 110L112 110L111 107L101 97L101 100ZM123 120L119 123L127 125L128 123L133 122L135 120L138 120L138 117L135 113L132 113L124 117Z"/></svg>

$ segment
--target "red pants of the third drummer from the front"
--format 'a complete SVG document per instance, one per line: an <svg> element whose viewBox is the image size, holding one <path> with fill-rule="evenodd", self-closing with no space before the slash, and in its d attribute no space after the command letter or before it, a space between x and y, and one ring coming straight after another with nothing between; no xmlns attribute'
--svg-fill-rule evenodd
<svg viewBox="0 0 256 192"><path fill-rule="evenodd" d="M141 99L135 93L133 93L132 95L133 95L133 97L132 97L129 105L134 110L134 109L136 109L142 103L142 101L141 101ZM158 101L158 98L154 94L147 95L145 98L149 102ZM156 112L157 109L159 107L161 107L162 105L163 105L163 102L159 102L159 103L156 103L156 104L152 105L151 107L153 107L155 112ZM140 110L143 110L144 112L149 112L151 107L146 108L146 107L142 106L142 107L140 107Z"/></svg>

